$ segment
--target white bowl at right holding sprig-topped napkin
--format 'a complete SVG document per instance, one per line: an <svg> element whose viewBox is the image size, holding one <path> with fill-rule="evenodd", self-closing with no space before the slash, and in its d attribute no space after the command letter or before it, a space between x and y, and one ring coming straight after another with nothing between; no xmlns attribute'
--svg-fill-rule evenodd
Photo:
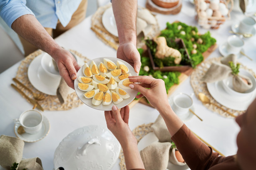
<svg viewBox="0 0 256 170"><path fill-rule="evenodd" d="M251 95L256 89L256 80L255 80L254 76L251 73L249 73L248 71L243 70L243 69L240 69L239 74L247 76L247 77L249 77L249 79L251 79L251 81L252 81L252 88L251 89L245 91L244 93L240 93L240 92L235 91L233 89L233 84L232 84L232 79L233 78L231 76L222 80L223 89L228 94L233 95L233 96L241 96L241 97L244 96L245 97L245 96Z"/></svg>

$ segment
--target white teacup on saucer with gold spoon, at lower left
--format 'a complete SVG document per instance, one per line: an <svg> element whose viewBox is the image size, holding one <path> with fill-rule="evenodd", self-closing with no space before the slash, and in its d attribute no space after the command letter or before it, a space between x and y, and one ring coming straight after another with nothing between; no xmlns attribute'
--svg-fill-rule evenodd
<svg viewBox="0 0 256 170"><path fill-rule="evenodd" d="M28 110L20 115L19 122L26 133L35 134L42 128L43 116L37 110Z"/></svg>

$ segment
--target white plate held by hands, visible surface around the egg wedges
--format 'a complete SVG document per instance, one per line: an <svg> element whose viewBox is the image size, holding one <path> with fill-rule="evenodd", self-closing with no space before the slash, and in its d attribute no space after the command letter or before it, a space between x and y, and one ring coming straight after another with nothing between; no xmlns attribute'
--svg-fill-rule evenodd
<svg viewBox="0 0 256 170"><path fill-rule="evenodd" d="M129 69L129 73L132 74L132 76L137 76L138 74L134 71L134 68L128 64L127 62L125 62L122 59L117 59L114 57L100 57L97 59L93 59L89 62L87 62L88 66L90 66L91 62L94 61L96 63L96 65L98 66L100 62L103 63L103 59L110 59L112 62L114 62L115 64L117 63L117 61L121 61L123 62ZM130 94L130 97L128 99L124 99L122 102L118 103L118 104L114 104L113 102L111 102L109 105L103 105L102 103L98 106L95 106L92 104L92 99L86 99L84 94L86 93L85 91L81 91L80 89L78 89L78 83L80 83L78 81L78 77L79 76L84 76L83 72L82 72L82 68L83 66L77 71L77 79L75 79L74 82L74 86L75 86L75 91L77 93L77 96L79 97L79 99L85 103L87 106L91 107L91 108L95 108L97 110L102 110L102 111L111 111L112 110L112 106L115 105L117 106L117 108L122 108L124 106L127 106L129 103L131 103L135 96L137 96L137 91L133 90L133 89L124 89L127 93ZM117 85L117 87L119 87L119 85ZM119 87L120 88L120 87ZM122 89L122 88L121 88Z"/></svg>

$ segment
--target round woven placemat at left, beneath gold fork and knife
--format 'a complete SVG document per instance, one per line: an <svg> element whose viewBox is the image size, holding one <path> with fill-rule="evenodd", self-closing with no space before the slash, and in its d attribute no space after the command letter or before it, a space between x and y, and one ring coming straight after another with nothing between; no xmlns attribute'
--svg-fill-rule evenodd
<svg viewBox="0 0 256 170"><path fill-rule="evenodd" d="M80 54L80 53L78 53L74 50L70 50L70 51L74 52L78 57L83 59L85 62L89 61L89 59L82 56L82 54ZM22 60L22 62L20 63L20 66L18 67L17 74L15 76L16 79L21 81L25 86L27 86L29 89L31 89L34 93L42 94L42 95L45 96L44 100L38 101L38 103L45 110L50 110L50 111L69 110L69 109L76 108L76 107L82 105L83 104L82 101L80 101L80 99L77 97L77 94L75 92L72 93L72 94L69 94L67 102L63 103L61 105L57 96L50 96L50 95L44 94L44 93L38 91L37 89L35 89L35 87L32 86L32 84L30 83L30 81L27 77L27 69L28 69L28 66L30 65L30 63L32 62L32 60L35 57L37 57L38 55L40 55L41 53L42 53L41 50L37 50L37 51L31 53L30 55L28 55L24 60ZM27 94L27 96L29 96L30 98L33 98L33 95L29 91L25 90L24 88L22 88L22 86L20 86L18 84L17 84L17 86L20 89L22 89L22 91L25 94Z"/></svg>

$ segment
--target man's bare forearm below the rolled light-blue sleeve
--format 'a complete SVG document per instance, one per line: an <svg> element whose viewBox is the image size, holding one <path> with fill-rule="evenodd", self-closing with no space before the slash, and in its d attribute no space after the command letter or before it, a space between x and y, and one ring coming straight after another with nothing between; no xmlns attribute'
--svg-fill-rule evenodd
<svg viewBox="0 0 256 170"><path fill-rule="evenodd" d="M12 23L12 29L39 49L52 55L60 46L33 15L22 15Z"/></svg>

